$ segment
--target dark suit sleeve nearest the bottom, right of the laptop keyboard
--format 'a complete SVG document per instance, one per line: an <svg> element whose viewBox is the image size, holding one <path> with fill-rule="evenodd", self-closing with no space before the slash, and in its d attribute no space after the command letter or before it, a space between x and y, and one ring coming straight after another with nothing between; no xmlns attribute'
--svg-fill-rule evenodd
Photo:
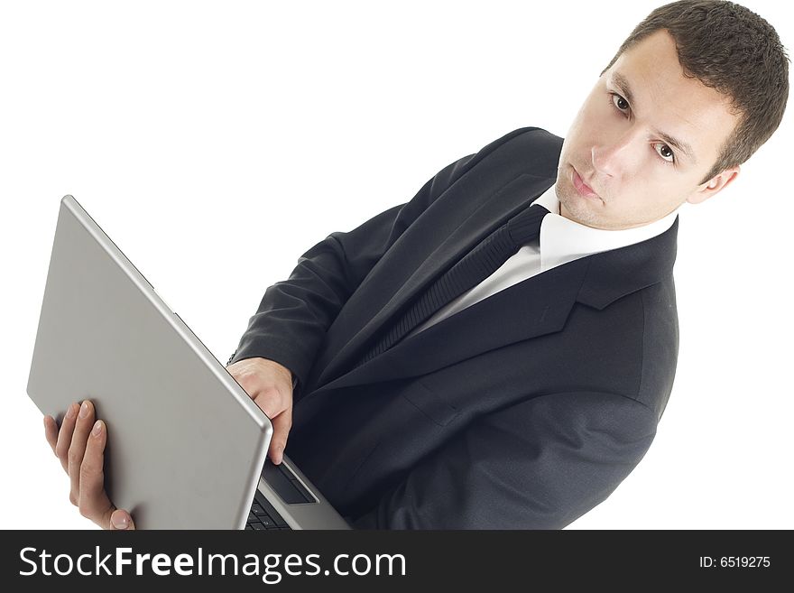
<svg viewBox="0 0 794 593"><path fill-rule="evenodd" d="M355 529L561 529L631 473L656 433L618 394L549 394L475 418L411 468Z"/></svg>

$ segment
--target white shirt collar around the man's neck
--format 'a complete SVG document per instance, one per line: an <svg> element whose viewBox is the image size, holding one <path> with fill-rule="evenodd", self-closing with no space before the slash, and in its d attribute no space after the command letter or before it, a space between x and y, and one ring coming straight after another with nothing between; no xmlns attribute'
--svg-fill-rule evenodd
<svg viewBox="0 0 794 593"><path fill-rule="evenodd" d="M672 226L678 215L677 208L665 217L642 227L620 230L587 227L559 214L559 199L554 183L532 203L549 210L549 214L540 223L541 271L566 264L577 257L632 245L660 235Z"/></svg>

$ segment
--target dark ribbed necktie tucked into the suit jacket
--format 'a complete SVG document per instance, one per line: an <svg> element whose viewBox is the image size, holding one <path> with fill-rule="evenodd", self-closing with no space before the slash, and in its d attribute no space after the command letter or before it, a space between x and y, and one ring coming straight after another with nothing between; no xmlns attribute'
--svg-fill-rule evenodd
<svg viewBox="0 0 794 593"><path fill-rule="evenodd" d="M549 214L549 210L534 204L526 208L502 227L486 236L465 257L452 266L446 273L430 285L418 301L402 315L375 347L366 353L357 365L378 356L392 347L411 329L428 320L433 313L440 310L448 302L453 301L467 290L483 282L485 278L498 270L504 262L540 234L540 222Z"/></svg>

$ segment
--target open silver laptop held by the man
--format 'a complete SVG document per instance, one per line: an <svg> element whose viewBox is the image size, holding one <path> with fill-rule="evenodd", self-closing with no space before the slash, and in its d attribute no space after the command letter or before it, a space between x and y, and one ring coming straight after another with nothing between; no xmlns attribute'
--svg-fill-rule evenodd
<svg viewBox="0 0 794 593"><path fill-rule="evenodd" d="M350 528L288 457L267 459L270 419L72 196L27 393L59 425L95 404L108 496L138 528Z"/></svg>

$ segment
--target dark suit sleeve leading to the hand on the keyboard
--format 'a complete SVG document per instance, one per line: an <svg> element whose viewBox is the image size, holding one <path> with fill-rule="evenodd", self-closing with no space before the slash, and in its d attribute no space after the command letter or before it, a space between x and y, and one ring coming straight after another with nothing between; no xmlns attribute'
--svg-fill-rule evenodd
<svg viewBox="0 0 794 593"><path fill-rule="evenodd" d="M293 386L305 381L325 333L350 295L405 229L473 165L477 154L448 164L411 201L349 232L331 233L301 255L287 280L265 290L226 366L245 358L269 358L291 370Z"/></svg>

